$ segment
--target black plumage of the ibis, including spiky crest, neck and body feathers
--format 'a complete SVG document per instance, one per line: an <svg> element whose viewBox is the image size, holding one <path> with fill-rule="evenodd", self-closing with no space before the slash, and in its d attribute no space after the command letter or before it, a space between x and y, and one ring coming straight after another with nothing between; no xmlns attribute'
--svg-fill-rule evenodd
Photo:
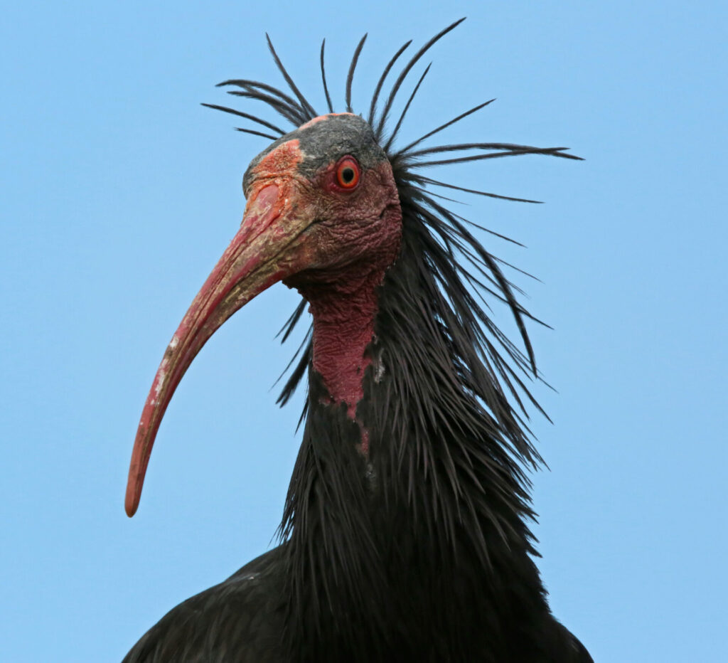
<svg viewBox="0 0 728 663"><path fill-rule="evenodd" d="M540 410L526 384L538 377L526 331L526 319L533 318L502 270L510 265L472 234L476 224L450 211L448 199L430 189L523 199L422 174L435 165L523 154L578 157L561 147L501 143L419 147L490 101L395 149L427 68L387 133L406 76L458 23L408 60L379 108L389 71L410 42L397 50L368 109L368 125L397 184L402 239L378 290L375 334L366 350L371 364L357 421L345 404L330 402L311 365L309 331L279 399L285 404L308 374L303 441L280 545L167 613L126 662L591 661L550 613L532 560L537 552L528 527L534 513L527 471L541 463L526 426L527 406ZM365 38L347 76L349 111ZM298 127L317 113L270 40L269 47L295 98L248 79L221 85L234 86L233 95L266 103ZM324 44L320 57L333 112ZM209 106L278 135L241 128L248 133L274 140L288 136L251 114ZM443 153L456 156L440 158ZM509 307L523 351L492 321L491 301ZM291 315L283 340L305 305L302 300ZM369 436L367 454L360 448L363 429Z"/></svg>

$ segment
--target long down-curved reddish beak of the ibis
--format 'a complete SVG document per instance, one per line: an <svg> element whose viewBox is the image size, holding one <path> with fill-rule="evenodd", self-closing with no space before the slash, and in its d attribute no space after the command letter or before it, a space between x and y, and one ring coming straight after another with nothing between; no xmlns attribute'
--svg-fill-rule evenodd
<svg viewBox="0 0 728 663"><path fill-rule="evenodd" d="M279 183L280 184L280 183ZM250 197L240 230L223 253L165 350L141 415L129 468L124 503L132 517L138 506L151 447L167 405L205 342L250 299L301 268L291 249L314 221L305 208L291 205L291 185L268 184Z"/></svg>

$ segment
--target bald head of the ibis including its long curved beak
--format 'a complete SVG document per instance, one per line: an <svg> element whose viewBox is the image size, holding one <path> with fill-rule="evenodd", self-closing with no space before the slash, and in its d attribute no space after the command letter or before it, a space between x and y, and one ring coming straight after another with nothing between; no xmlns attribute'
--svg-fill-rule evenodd
<svg viewBox="0 0 728 663"><path fill-rule="evenodd" d="M400 246L392 167L361 117L328 114L274 141L243 178L240 229L183 317L154 377L132 452L126 510L137 509L159 424L205 342L278 281L306 292L383 273Z"/></svg>

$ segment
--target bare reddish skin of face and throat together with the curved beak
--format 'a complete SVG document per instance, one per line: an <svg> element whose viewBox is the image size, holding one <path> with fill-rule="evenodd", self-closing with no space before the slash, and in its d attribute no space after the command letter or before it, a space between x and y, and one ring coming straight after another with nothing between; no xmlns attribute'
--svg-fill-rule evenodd
<svg viewBox="0 0 728 663"><path fill-rule="evenodd" d="M291 140L253 169L240 230L165 351L132 452L125 503L130 516L138 508L159 423L191 361L227 318L279 280L309 301L314 369L332 401L346 403L355 418L371 363L365 348L374 334L376 289L400 248L397 187L386 161L362 170L357 186L344 189L336 179L341 160L308 179L296 169L303 158L298 141Z"/></svg>

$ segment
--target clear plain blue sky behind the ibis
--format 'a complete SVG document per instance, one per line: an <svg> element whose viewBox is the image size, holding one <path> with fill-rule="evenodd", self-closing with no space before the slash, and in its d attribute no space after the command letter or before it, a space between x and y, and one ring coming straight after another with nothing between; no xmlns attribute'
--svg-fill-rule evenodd
<svg viewBox="0 0 728 663"><path fill-rule="evenodd" d="M466 200L521 240L553 425L534 477L556 615L597 662L728 660L723 2L15 2L0 23L0 658L114 662L167 609L263 552L301 398L270 391L292 348L283 286L213 337L159 433L141 509L132 439L171 334L242 216L266 140L199 106L230 77L282 84L269 31L322 107L355 43L363 109L400 44L432 50L403 138L480 101L447 141L567 145L454 168L545 205ZM417 66L415 74L430 61ZM413 81L406 86L407 90ZM405 98L406 95L403 95ZM241 104L244 106L244 104ZM249 103L247 109L258 108ZM272 118L271 118L272 119ZM507 317L502 316L507 324Z"/></svg>

